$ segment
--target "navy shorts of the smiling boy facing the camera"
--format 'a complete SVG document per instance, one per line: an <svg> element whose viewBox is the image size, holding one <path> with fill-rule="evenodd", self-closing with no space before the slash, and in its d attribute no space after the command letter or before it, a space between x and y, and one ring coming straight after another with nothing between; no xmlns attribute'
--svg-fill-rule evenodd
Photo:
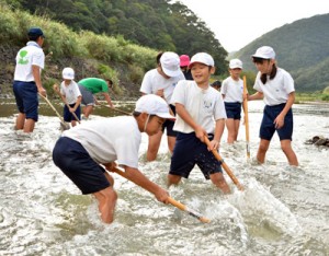
<svg viewBox="0 0 329 256"><path fill-rule="evenodd" d="M209 135L208 137L212 140L213 136ZM209 179L211 174L223 172L220 162L212 151L207 150L207 146L195 137L195 132L178 132L169 174L189 178L195 164L206 179Z"/></svg>

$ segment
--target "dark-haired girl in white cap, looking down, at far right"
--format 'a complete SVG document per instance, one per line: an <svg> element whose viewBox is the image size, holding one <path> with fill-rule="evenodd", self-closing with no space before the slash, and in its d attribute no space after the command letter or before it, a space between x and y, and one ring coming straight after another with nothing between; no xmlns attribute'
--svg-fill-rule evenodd
<svg viewBox="0 0 329 256"><path fill-rule="evenodd" d="M253 89L257 91L248 95L248 101L263 98L265 103L263 119L260 127L260 144L257 160L264 163L271 139L276 131L281 149L291 165L298 165L297 156L292 149L293 110L295 86L292 75L275 65L275 53L270 46L262 46L251 56L259 70Z"/></svg>

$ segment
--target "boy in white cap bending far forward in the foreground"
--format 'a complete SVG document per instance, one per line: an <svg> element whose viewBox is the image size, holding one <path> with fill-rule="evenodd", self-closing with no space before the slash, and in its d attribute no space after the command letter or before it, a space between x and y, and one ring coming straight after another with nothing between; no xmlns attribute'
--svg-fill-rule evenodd
<svg viewBox="0 0 329 256"><path fill-rule="evenodd" d="M113 221L117 195L111 171L114 161L138 186L168 203L168 193L138 171L141 132L160 131L166 119L174 119L167 102L157 95L145 95L136 102L133 116L91 120L63 132L53 150L54 163L86 194L93 194L101 218ZM102 167L100 164L104 165Z"/></svg>

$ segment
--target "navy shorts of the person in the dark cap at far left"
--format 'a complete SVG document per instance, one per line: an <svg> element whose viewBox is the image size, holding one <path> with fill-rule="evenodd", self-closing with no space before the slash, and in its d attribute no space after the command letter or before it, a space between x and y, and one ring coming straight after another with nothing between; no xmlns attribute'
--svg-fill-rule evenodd
<svg viewBox="0 0 329 256"><path fill-rule="evenodd" d="M13 82L13 93L20 113L25 114L26 119L37 121L38 97L35 82Z"/></svg>

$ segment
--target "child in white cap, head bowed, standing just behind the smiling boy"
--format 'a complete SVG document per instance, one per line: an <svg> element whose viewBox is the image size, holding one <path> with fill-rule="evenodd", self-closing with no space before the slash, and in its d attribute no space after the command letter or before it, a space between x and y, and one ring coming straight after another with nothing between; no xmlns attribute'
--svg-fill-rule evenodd
<svg viewBox="0 0 329 256"><path fill-rule="evenodd" d="M159 57L158 67L145 73L139 91L143 95L159 95L169 104L178 81L185 80L185 78L180 69L180 58L175 53L166 51L157 56L157 58ZM170 108L174 114L174 106L170 105ZM175 142L175 131L172 130L173 124L174 121L167 120L159 133L149 137L146 153L147 161L156 160L164 129L167 130L168 148L172 152Z"/></svg>

